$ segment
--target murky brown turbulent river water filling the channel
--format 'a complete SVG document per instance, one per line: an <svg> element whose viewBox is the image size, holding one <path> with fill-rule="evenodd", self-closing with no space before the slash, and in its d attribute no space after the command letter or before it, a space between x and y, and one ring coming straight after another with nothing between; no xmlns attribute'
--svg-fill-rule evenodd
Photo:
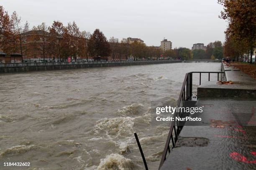
<svg viewBox="0 0 256 170"><path fill-rule="evenodd" d="M134 132L157 169L169 127L151 124L151 101L177 100L186 72L219 70L197 62L1 74L0 169L143 170Z"/></svg>

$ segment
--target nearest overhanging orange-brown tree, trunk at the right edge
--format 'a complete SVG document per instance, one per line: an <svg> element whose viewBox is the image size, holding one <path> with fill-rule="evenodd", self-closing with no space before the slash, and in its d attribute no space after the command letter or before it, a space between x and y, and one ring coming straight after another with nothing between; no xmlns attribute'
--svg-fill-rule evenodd
<svg viewBox="0 0 256 170"><path fill-rule="evenodd" d="M252 63L253 48L256 46L256 1L218 0L218 3L224 7L220 18L228 21L225 33L231 34L236 40L246 42Z"/></svg>

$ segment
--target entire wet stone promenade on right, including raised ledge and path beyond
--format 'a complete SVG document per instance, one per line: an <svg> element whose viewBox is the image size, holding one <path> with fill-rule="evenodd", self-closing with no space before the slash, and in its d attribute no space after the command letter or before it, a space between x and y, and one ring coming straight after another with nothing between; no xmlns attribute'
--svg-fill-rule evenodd
<svg viewBox="0 0 256 170"><path fill-rule="evenodd" d="M161 170L255 170L256 80L222 63L225 79L197 88L202 121L186 122Z"/></svg>

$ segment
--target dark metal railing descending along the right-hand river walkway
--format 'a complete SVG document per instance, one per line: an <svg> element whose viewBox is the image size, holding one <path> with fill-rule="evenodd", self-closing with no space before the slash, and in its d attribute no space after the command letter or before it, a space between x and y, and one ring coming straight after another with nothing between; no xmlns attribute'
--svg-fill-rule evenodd
<svg viewBox="0 0 256 170"><path fill-rule="evenodd" d="M193 73L199 73L200 76L200 80L199 80L199 84L201 85L201 74L202 73L207 73L208 74L208 81L210 81L210 73L217 73L218 78L217 80L219 80L221 78L221 80L223 80L223 76L225 76L225 72L188 72L185 75L183 84L182 84L182 89L181 92L179 94L179 99L177 101L177 107L184 107L184 102L187 100L191 100L192 97L192 78L193 78ZM221 77L219 77L219 75L221 74ZM174 113L174 117L176 116L179 117L183 117L184 113L183 112L175 112ZM174 148L175 143L178 140L178 136L179 133L181 132L183 128L183 125L181 122L179 121L172 121L172 124L170 126L169 129L169 133L168 133L168 137L164 146L164 152L162 154L162 158L161 158L161 162L159 165L159 170L161 168L161 166L163 165L164 161L166 160L166 155L167 155L167 151L170 153L171 149L170 149L170 142L172 140L172 148Z"/></svg>

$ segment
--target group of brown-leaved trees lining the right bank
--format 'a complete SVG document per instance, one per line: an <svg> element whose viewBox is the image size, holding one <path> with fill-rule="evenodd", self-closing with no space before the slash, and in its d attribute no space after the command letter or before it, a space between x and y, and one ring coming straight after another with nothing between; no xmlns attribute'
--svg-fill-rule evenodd
<svg viewBox="0 0 256 170"><path fill-rule="evenodd" d="M224 55L243 61L244 54L248 54L252 63L256 47L256 1L218 0L218 3L224 7L219 17L228 22Z"/></svg>

